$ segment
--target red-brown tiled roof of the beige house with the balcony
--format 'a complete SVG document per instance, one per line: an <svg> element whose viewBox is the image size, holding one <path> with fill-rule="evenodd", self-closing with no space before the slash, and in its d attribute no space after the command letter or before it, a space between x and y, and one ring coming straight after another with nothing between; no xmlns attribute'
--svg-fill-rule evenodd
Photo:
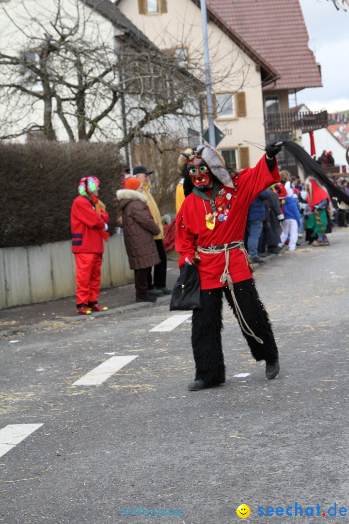
<svg viewBox="0 0 349 524"><path fill-rule="evenodd" d="M265 89L322 86L298 0L207 0L207 6L279 73Z"/></svg>

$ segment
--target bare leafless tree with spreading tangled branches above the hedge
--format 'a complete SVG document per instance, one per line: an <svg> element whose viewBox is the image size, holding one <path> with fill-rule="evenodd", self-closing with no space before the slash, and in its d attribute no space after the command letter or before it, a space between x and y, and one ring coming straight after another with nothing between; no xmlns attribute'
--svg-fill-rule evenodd
<svg viewBox="0 0 349 524"><path fill-rule="evenodd" d="M156 139L160 128L173 129L175 117L188 121L185 130L197 119L201 84L176 57L126 31L115 36L110 22L105 35L82 0L50 0L40 17L30 10L37 2L15 3L17 12L0 5L20 34L20 45L0 52L1 138L35 129L54 140L58 129L71 141L126 146L141 130Z"/></svg>

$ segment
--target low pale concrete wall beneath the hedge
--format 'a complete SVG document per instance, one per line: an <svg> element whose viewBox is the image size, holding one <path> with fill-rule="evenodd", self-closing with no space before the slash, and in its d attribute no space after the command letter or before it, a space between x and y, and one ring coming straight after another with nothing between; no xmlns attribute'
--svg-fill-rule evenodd
<svg viewBox="0 0 349 524"><path fill-rule="evenodd" d="M104 243L101 288L133 282L123 235ZM71 241L0 249L0 309L75 294Z"/></svg>

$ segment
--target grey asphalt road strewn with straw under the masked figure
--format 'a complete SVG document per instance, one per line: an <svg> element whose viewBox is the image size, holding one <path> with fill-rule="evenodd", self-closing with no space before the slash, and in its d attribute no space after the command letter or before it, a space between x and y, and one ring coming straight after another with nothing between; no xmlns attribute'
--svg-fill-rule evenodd
<svg viewBox="0 0 349 524"><path fill-rule="evenodd" d="M347 522L348 243L336 230L330 247L258 267L280 351L276 380L264 378L228 308L228 380L197 392L186 389L190 319L150 331L181 314L168 304L4 337L1 428L42 425L0 457L0 522L231 524L241 504L247 523L274 523L276 508L281 521L289 508L292 522L316 522L317 505L329 522L335 503ZM121 355L137 357L102 384L73 385Z"/></svg>

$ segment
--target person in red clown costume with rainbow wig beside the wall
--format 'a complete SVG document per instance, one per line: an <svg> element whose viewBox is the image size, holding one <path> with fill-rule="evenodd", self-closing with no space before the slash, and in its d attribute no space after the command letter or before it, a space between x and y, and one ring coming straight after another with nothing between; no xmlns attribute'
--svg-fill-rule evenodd
<svg viewBox="0 0 349 524"><path fill-rule="evenodd" d="M103 239L107 241L108 213L98 200L99 180L84 177L78 185L79 196L71 211L72 251L76 267L76 309L88 315L93 311L106 311L98 304L100 266L104 253Z"/></svg>

